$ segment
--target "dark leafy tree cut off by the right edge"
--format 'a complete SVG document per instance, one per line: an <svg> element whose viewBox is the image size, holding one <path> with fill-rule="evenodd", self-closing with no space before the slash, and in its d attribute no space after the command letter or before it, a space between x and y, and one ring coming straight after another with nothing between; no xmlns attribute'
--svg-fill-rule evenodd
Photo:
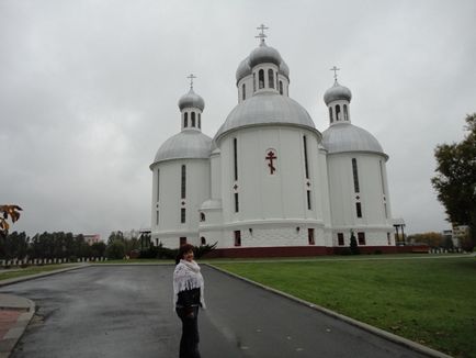
<svg viewBox="0 0 476 358"><path fill-rule="evenodd" d="M447 220L468 225L471 247L476 244L476 113L467 115L468 133L460 143L440 144L434 150L437 176L431 179Z"/></svg>

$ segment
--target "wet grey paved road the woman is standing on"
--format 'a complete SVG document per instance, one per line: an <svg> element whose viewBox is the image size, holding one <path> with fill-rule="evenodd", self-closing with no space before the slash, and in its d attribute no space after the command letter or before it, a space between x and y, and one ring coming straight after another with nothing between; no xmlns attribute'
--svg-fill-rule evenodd
<svg viewBox="0 0 476 358"><path fill-rule="evenodd" d="M12 357L178 357L172 266L89 267L0 289L37 304ZM203 358L424 357L204 267Z"/></svg>

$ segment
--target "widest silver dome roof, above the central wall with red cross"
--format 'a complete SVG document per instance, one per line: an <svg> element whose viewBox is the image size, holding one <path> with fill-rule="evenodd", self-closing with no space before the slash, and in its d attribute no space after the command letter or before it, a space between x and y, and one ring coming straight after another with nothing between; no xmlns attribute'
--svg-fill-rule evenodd
<svg viewBox="0 0 476 358"><path fill-rule="evenodd" d="M214 141L229 131L263 124L290 124L317 131L309 113L296 101L271 91L258 92L233 109Z"/></svg>

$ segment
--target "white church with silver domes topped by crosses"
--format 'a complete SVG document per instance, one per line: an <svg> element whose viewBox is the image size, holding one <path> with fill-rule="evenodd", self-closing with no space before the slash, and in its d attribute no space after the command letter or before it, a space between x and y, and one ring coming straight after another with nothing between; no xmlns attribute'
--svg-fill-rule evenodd
<svg viewBox="0 0 476 358"><path fill-rule="evenodd" d="M205 102L179 100L180 133L158 149L152 171L151 238L165 247L217 243L213 256L314 256L348 248L395 251L385 154L354 125L351 91L337 81L320 132L288 96L290 69L260 44L238 66L238 104L211 138ZM336 69L336 68L335 68Z"/></svg>

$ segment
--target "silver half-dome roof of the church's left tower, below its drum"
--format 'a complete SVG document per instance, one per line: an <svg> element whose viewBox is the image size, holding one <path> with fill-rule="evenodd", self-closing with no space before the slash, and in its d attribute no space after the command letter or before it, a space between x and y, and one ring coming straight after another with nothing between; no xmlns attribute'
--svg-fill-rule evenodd
<svg viewBox="0 0 476 358"><path fill-rule="evenodd" d="M209 158L212 138L195 130L185 130L167 139L157 150L154 164L170 159ZM152 164L152 165L154 165Z"/></svg>

